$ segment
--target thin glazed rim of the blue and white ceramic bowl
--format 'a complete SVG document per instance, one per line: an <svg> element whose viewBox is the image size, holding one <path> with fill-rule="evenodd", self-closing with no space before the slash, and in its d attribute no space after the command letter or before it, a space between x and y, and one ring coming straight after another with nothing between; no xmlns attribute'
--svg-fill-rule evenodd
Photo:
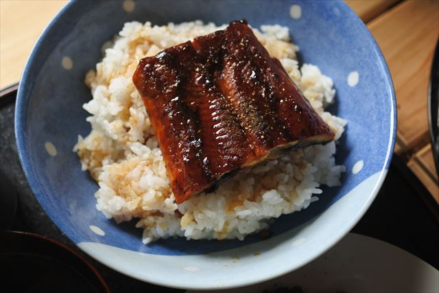
<svg viewBox="0 0 439 293"><path fill-rule="evenodd" d="M80 1L78 1L78 0L72 0L72 1L69 1L66 5L64 5L64 7L56 14L56 16L54 16L54 19L52 19L50 21L50 23L47 25L47 27L45 28L43 33L38 37L36 44L32 48L32 51L29 54L29 57L27 58L27 62L25 64L25 67L23 70L21 82L19 84L19 90L18 90L17 98L16 98L15 115L14 115L14 117L15 117L14 118L14 125L15 125L16 145L17 145L17 149L18 149L18 153L19 153L20 163L23 167L23 172L25 173L25 177L27 178L27 182L29 183L29 186L31 187L31 189L35 195L41 194L41 190L38 187L36 177L34 176L34 174L32 172L32 168L31 168L31 164L30 164L30 160L29 160L29 155L27 153L27 147L26 147L26 143L25 143L26 137L25 137L24 130L26 128L26 122L25 122L24 118L27 114L27 108L29 105L29 97L30 97L30 95L26 95L27 93L25 90L25 86L26 86L26 84L29 84L29 82L32 82L32 80L29 80L29 72L32 71L32 62L33 62L34 58L36 58L36 56L38 55L38 50L40 48L40 45L43 43L43 40L45 39L47 34L49 34L49 32L52 30L52 28L55 27L58 24L58 22L63 18L64 14L66 14L68 12L68 10L70 10L73 6L78 5L79 2ZM223 285L221 287L219 287L218 285L215 286L213 284L203 285L200 283L193 284L193 286L191 286L191 287L188 287L187 285L185 285L183 287L181 285L182 283L179 284L179 282L176 282L175 280L173 281L174 283L160 283L160 282L158 282L150 277L143 277L143 278L135 277L132 274L130 274L129 272L122 271L119 268L117 268L116 266L112 265L112 263L107 261L105 258L99 258L99 257L92 256L94 259L96 259L97 261L99 261L101 263L104 263L104 265L112 268L113 270L116 270L117 272L120 272L121 274L128 275L129 277L132 277L134 279L138 279L139 281L144 281L144 282L152 283L155 285L162 285L162 286L166 286L169 288L184 288L184 289L191 289L191 290L219 290L219 289L238 288L238 287L242 287L245 285L252 285L254 283L260 283L263 281L267 281L268 279L273 279L273 278L279 277L283 274L287 274L288 272L292 272L293 270L297 270L300 267L305 266L307 263L313 261L314 259L320 257L320 255L323 255L324 253L326 253L327 250L329 250L333 246L335 246L335 244L340 242L340 240L344 236L346 236L349 233L349 231L352 230L352 228L357 224L357 222L359 222L359 220L363 217L363 215L366 213L366 211L368 211L372 202L375 200L379 190L381 189L381 186L383 185L383 181L385 179L385 176L387 175L387 171L388 171L388 168L390 166L390 161L392 160L394 144L396 141L396 124L397 124L396 97L395 97L395 93L394 93L394 85L393 85L393 81L392 81L392 76L390 75L390 71L388 69L387 62L385 61L383 53L381 52L381 49L380 49L379 45L377 44L375 38L372 36L372 34L370 33L370 31L368 30L366 25L363 23L363 21L361 21L361 19L359 19L359 16L357 16L357 14L355 12L353 12L353 10L346 3L342 2L342 1L336 2L336 3L337 3L337 5L341 5L345 9L347 8L347 10L351 11L352 17L359 24L359 27L362 30L361 33L365 34L366 36L368 36L368 38L370 38L371 45L375 49L375 52L377 54L377 59L379 60L379 62L381 62L382 69L383 69L383 75L385 75L385 78L387 79L387 82L386 82L387 83L386 86L388 86L387 93L390 93L390 95L388 95L388 98L390 99L390 135L389 135L388 148L386 151L385 160L384 160L383 165L382 165L383 167L381 168L381 170L379 172L377 172L377 173L379 173L379 177L377 178L375 185L372 188L370 195L368 196L368 199L366 200L366 202L364 202L364 205L361 207L361 209L359 209L359 211L357 211L357 215L355 215L354 220L351 223L346 224L346 226L344 226L344 228L340 229L339 233L337 233L337 236L335 236L331 239L329 246L327 246L326 248L324 248L320 251L317 251L314 255L311 255L302 263L298 263L296 266L290 266L289 269L283 270L281 272L267 274L267 277L265 277L263 279L250 280L250 281L230 280L230 284ZM45 213L47 215L49 215L49 218L51 219L51 221L54 222L56 224L56 226L58 226L61 229L62 226L64 226L64 224L62 224L62 222L56 220L56 217L53 218L52 216L54 215L54 213L52 213L51 211L48 211L45 208L45 206L43 206L43 202L40 200L40 198L38 198L38 196L36 196L36 198L37 198L38 202L40 203L41 207L43 207L43 210L45 211ZM66 235L67 235L67 237L70 237L69 234L66 233ZM78 244L79 243L75 243L76 246L78 246ZM84 251L84 253L87 253L88 255L90 255L87 251L82 249L80 246L78 246L78 247L82 251Z"/></svg>

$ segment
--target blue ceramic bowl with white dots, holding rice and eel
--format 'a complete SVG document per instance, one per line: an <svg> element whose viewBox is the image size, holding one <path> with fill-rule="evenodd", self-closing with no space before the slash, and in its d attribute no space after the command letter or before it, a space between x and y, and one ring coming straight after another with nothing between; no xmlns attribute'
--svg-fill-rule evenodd
<svg viewBox="0 0 439 293"><path fill-rule="evenodd" d="M101 58L102 44L126 21L165 24L201 19L219 25L243 18L254 27L286 25L300 47L302 62L318 65L333 78L337 104L332 110L348 120L336 157L347 169L342 186L325 189L324 196L305 211L278 219L270 239L167 239L145 246L133 222L117 225L95 209L97 185L81 171L72 151L77 134L90 131L82 109L91 99L84 74ZM29 185L51 220L82 250L136 279L211 289L285 274L346 235L372 203L387 173L396 107L379 47L342 2L72 1L47 27L29 57L15 123Z"/></svg>

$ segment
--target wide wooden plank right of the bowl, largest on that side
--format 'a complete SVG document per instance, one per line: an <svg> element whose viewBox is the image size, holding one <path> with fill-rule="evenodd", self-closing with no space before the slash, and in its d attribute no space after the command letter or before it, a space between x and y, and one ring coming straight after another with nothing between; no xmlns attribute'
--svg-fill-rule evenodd
<svg viewBox="0 0 439 293"><path fill-rule="evenodd" d="M427 137L427 89L439 36L439 1L404 1L368 23L394 82L405 150Z"/></svg>

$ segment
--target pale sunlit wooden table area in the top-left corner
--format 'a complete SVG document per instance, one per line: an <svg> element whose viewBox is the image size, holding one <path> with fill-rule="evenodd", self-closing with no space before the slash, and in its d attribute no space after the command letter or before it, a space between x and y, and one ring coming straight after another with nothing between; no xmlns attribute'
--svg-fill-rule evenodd
<svg viewBox="0 0 439 293"><path fill-rule="evenodd" d="M19 81L38 36L65 3L0 0L0 88Z"/></svg>

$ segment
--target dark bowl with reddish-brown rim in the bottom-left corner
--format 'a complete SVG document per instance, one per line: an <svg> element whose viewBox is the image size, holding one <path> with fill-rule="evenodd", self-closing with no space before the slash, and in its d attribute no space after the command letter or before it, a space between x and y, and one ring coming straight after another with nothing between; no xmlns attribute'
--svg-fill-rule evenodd
<svg viewBox="0 0 439 293"><path fill-rule="evenodd" d="M64 244L41 235L0 232L3 288L13 292L110 292L99 272Z"/></svg>

